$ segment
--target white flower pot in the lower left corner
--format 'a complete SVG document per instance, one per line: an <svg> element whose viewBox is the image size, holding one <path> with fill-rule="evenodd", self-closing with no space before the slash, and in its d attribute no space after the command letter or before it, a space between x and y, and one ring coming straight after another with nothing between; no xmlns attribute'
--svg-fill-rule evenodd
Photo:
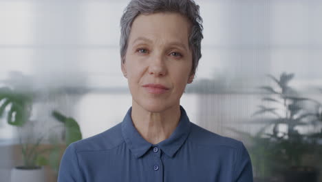
<svg viewBox="0 0 322 182"><path fill-rule="evenodd" d="M11 182L45 182L45 170L43 167L26 169L17 166L11 170Z"/></svg>

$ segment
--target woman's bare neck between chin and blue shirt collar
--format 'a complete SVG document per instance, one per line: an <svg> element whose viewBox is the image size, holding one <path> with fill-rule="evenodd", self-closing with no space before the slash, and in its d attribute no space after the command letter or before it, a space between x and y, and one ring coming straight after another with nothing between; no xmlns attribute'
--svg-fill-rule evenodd
<svg viewBox="0 0 322 182"><path fill-rule="evenodd" d="M149 112L132 102L131 118L140 135L152 144L168 139L180 121L180 105L161 112Z"/></svg>

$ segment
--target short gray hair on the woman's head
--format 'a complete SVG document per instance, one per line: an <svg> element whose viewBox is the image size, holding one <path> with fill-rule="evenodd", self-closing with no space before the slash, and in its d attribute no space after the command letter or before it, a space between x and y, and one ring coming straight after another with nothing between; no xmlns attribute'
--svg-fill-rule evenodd
<svg viewBox="0 0 322 182"><path fill-rule="evenodd" d="M131 0L120 20L120 56L122 63L125 61L131 26L139 14L151 14L154 12L178 12L191 22L189 35L189 48L193 55L193 66L191 74L195 74L201 54L202 17L200 17L199 6L193 0Z"/></svg>

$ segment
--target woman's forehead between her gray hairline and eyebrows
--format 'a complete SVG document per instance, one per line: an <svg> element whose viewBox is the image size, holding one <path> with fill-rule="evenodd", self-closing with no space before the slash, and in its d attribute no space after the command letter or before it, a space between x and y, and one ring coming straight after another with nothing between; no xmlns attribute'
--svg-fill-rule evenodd
<svg viewBox="0 0 322 182"><path fill-rule="evenodd" d="M129 44L138 37L145 37L151 41L189 43L189 20L179 13L158 12L140 14L133 21Z"/></svg>

